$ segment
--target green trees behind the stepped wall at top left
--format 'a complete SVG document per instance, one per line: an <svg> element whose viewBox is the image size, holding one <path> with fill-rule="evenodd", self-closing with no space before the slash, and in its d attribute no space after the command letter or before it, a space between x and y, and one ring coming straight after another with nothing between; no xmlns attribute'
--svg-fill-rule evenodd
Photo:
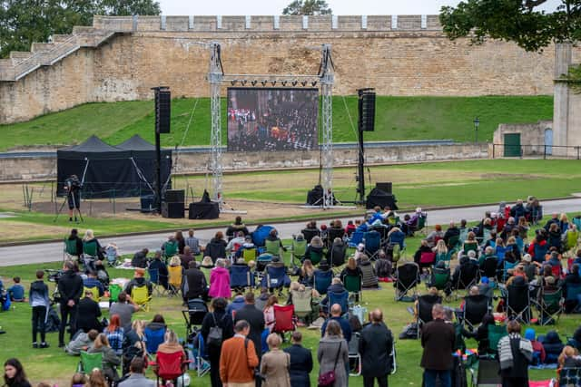
<svg viewBox="0 0 581 387"><path fill-rule="evenodd" d="M160 15L155 0L0 0L0 57L28 51L74 25L93 24L93 15Z"/></svg>

